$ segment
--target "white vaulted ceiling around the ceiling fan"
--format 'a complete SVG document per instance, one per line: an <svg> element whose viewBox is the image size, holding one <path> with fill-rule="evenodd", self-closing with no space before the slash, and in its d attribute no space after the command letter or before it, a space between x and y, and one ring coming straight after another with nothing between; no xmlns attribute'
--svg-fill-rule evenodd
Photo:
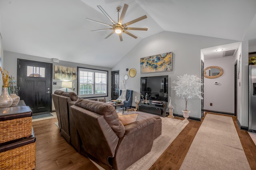
<svg viewBox="0 0 256 170"><path fill-rule="evenodd" d="M124 3L124 23L146 14L130 27L148 31L130 31L137 39L122 34L123 42L116 34L104 39L111 30L90 32L108 26L85 18L111 24L97 5L117 20ZM0 16L6 51L110 68L162 31L256 43L256 0L0 0Z"/></svg>

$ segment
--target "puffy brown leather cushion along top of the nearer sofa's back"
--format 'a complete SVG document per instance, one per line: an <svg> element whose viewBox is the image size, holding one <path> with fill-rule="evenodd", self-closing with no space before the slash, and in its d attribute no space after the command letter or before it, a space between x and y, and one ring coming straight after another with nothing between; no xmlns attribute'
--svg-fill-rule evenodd
<svg viewBox="0 0 256 170"><path fill-rule="evenodd" d="M124 136L124 125L119 121L116 109L112 105L87 99L78 99L75 105L99 115L103 115L104 119L116 133L118 138L122 138L122 136Z"/></svg>

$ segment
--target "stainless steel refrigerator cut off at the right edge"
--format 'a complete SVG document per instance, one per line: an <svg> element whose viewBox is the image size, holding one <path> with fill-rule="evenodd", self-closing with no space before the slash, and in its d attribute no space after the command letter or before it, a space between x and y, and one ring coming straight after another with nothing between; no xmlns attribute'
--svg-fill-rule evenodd
<svg viewBox="0 0 256 170"><path fill-rule="evenodd" d="M249 131L256 132L256 65L249 65Z"/></svg>

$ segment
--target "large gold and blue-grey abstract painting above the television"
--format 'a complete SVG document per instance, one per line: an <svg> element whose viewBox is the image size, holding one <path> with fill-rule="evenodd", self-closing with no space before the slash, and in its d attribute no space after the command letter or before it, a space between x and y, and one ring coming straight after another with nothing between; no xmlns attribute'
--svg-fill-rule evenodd
<svg viewBox="0 0 256 170"><path fill-rule="evenodd" d="M140 58L140 73L172 71L172 52Z"/></svg>

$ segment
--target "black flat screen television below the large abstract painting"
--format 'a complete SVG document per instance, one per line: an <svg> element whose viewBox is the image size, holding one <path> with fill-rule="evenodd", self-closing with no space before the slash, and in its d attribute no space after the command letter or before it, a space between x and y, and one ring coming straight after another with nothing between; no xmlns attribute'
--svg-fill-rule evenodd
<svg viewBox="0 0 256 170"><path fill-rule="evenodd" d="M148 93L148 100L168 102L168 75L140 77L140 93L144 99Z"/></svg>

